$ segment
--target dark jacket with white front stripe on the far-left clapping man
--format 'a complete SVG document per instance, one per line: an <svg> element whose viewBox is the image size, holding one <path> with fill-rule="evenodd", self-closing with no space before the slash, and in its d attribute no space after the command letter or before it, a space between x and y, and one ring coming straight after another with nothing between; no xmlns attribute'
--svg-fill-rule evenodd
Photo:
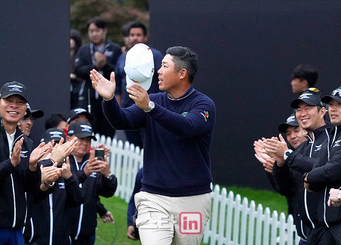
<svg viewBox="0 0 341 245"><path fill-rule="evenodd" d="M40 187L41 171L29 169L33 142L16 128L14 144L24 138L20 152L20 163L14 167L10 160L10 150L6 130L0 118L0 227L22 228L26 217L26 193L34 193Z"/></svg>

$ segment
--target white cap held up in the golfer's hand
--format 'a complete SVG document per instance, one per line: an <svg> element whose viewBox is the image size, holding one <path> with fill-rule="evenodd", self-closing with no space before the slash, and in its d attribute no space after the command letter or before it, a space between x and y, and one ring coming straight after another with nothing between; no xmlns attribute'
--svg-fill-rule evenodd
<svg viewBox="0 0 341 245"><path fill-rule="evenodd" d="M136 84L147 91L154 75L154 59L150 47L137 43L129 49L124 71L127 74L127 86Z"/></svg>

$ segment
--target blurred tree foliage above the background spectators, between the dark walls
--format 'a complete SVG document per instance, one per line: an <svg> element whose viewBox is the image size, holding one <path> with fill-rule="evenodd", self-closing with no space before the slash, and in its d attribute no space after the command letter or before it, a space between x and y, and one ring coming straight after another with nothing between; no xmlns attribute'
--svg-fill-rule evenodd
<svg viewBox="0 0 341 245"><path fill-rule="evenodd" d="M78 29L83 42L89 42L87 22L100 16L107 22L108 38L123 45L121 27L132 20L149 26L148 0L71 0L71 28Z"/></svg>

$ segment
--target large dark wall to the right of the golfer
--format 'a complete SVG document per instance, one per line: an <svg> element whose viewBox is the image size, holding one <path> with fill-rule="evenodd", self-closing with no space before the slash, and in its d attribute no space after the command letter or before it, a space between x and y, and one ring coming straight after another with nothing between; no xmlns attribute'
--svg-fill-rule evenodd
<svg viewBox="0 0 341 245"><path fill-rule="evenodd" d="M194 87L216 105L214 183L270 188L253 141L278 134L291 113L291 73L320 71L322 94L341 85L337 1L154 0L150 45L187 46L199 55Z"/></svg>

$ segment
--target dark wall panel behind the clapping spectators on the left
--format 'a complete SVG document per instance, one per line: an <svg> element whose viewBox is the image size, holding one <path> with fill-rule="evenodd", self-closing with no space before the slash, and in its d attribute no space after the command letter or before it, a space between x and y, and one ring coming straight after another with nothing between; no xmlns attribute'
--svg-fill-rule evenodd
<svg viewBox="0 0 341 245"><path fill-rule="evenodd" d="M0 86L18 81L28 90L37 145L45 119L69 111L69 1L0 1Z"/></svg>

